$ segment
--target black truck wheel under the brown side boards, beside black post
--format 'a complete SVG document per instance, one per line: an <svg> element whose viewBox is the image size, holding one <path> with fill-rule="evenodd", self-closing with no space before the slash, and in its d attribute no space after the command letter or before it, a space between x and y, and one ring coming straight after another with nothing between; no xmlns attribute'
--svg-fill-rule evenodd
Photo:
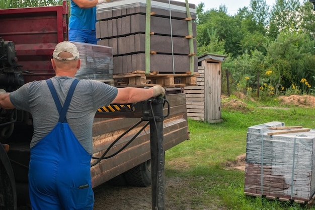
<svg viewBox="0 0 315 210"><path fill-rule="evenodd" d="M124 173L128 185L148 187L151 185L151 160L126 171Z"/></svg>

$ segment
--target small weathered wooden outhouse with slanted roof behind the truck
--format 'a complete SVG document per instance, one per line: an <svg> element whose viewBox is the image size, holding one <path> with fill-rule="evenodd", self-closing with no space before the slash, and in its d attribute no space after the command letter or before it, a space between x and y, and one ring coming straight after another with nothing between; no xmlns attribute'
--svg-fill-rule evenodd
<svg viewBox="0 0 315 210"><path fill-rule="evenodd" d="M221 122L221 62L225 55L198 56L196 86L186 86L187 116L209 123Z"/></svg>

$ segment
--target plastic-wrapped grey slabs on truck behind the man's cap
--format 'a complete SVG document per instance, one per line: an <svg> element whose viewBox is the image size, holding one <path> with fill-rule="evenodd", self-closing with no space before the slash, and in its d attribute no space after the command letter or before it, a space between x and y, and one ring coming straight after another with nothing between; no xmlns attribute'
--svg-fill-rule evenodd
<svg viewBox="0 0 315 210"><path fill-rule="evenodd" d="M113 48L108 46L72 42L80 53L81 67L76 79L112 80Z"/></svg>

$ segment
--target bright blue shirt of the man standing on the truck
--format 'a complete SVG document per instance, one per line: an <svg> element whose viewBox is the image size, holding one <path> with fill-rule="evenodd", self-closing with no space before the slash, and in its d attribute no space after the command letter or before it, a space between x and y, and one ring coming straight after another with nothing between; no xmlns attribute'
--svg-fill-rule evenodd
<svg viewBox="0 0 315 210"><path fill-rule="evenodd" d="M96 7L83 9L70 0L69 28L95 30L96 22Z"/></svg>

